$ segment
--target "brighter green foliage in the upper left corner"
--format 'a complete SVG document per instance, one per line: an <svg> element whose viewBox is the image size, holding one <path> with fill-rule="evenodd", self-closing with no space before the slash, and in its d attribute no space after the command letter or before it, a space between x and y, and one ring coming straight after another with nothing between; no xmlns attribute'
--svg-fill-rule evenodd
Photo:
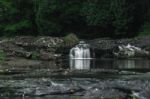
<svg viewBox="0 0 150 99"><path fill-rule="evenodd" d="M0 0L0 32L3 33L1 35L33 35L35 26L31 1Z"/></svg>

